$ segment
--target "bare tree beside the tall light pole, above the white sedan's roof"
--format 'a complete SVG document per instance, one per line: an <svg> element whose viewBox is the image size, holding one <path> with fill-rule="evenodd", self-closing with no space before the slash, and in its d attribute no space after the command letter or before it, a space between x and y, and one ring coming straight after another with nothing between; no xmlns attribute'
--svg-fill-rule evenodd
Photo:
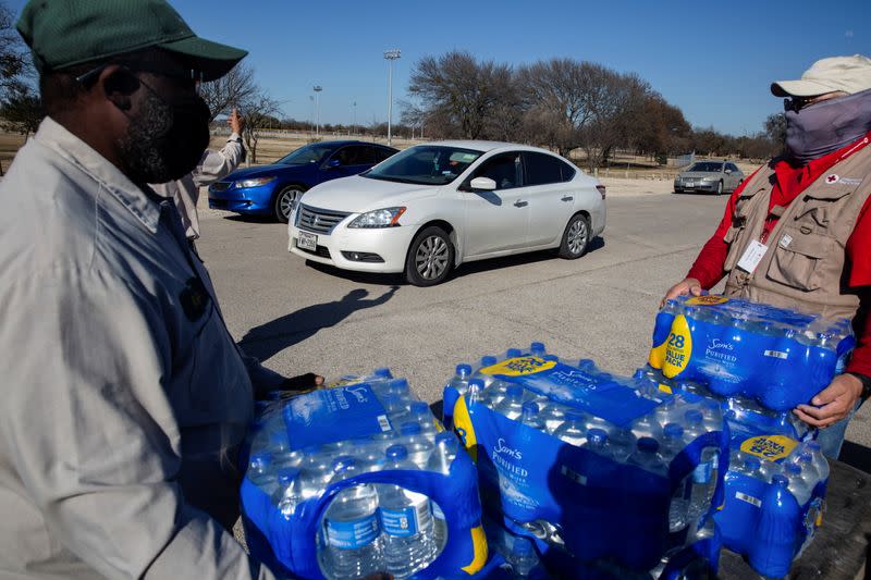
<svg viewBox="0 0 871 580"><path fill-rule="evenodd" d="M511 67L505 64L479 63L469 52L453 51L418 61L412 70L408 92L420 101L427 118L449 123L441 127L444 133L453 129L476 139L486 136L511 78Z"/></svg>

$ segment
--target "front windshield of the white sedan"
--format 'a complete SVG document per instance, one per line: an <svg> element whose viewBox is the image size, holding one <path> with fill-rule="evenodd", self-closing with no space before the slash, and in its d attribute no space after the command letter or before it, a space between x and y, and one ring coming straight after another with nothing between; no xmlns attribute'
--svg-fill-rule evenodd
<svg viewBox="0 0 871 580"><path fill-rule="evenodd" d="M445 185L466 171L482 151L439 145L418 145L396 153L363 175L372 180Z"/></svg>

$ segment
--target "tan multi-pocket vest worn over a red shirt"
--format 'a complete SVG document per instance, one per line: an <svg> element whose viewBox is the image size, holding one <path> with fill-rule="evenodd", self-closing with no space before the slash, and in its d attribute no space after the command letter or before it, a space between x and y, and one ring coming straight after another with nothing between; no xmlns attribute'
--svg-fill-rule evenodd
<svg viewBox="0 0 871 580"><path fill-rule="evenodd" d="M836 163L786 208L772 209L781 218L765 242L762 261L747 273L736 264L750 242L762 235L774 180L770 163L751 177L737 199L725 235L729 245L723 267L728 273L725 294L852 319L859 298L847 286L845 248L871 194L871 146Z"/></svg>

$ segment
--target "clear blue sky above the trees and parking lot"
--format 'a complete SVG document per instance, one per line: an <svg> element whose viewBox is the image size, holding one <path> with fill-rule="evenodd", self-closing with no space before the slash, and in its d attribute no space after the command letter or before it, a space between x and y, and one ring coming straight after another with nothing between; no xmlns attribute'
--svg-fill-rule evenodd
<svg viewBox="0 0 871 580"><path fill-rule="evenodd" d="M752 134L782 110L772 81L823 57L871 55L871 0L559 1L171 0L206 38L247 49L259 84L287 116L321 123L387 120L415 62L450 50L519 65L568 57L635 72L695 126ZM20 11L23 0L10 5ZM394 104L394 122L398 107Z"/></svg>

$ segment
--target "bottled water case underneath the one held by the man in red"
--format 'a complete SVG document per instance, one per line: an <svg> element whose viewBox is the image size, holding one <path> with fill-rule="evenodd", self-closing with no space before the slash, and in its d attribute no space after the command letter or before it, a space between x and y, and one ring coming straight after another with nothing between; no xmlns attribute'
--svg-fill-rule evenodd
<svg viewBox="0 0 871 580"><path fill-rule="evenodd" d="M822 525L829 462L813 441L817 430L790 411L739 395L717 397L702 383L670 380L650 367L636 377L721 406L731 437L724 505L714 516L723 544L760 575L785 576Z"/></svg>

